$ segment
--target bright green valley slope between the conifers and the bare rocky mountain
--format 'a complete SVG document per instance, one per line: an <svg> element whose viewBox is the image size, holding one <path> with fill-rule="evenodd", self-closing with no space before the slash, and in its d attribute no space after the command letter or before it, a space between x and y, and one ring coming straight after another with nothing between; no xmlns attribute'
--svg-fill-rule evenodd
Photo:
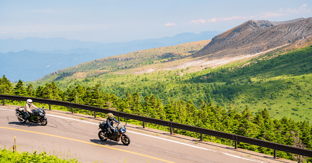
<svg viewBox="0 0 312 163"><path fill-rule="evenodd" d="M227 108L228 103L232 102L240 111L246 106L253 113L268 108L272 118L280 119L286 116L296 121L310 121L311 49L311 46L307 46L288 53L276 49L256 58L236 60L215 69L196 72L190 68L135 74L138 69L171 64L161 62L131 69L103 70L104 72L101 70L100 73L99 70L72 75L59 73L50 76L48 80L32 84L44 85L54 80L57 86L65 91L69 86L80 84L92 87L101 83L101 90L121 97L129 90L138 92L141 99L148 94L154 94L163 104L168 100L192 100L199 107L203 99ZM81 75L81 79L78 75ZM84 76L86 78L83 78Z"/></svg>

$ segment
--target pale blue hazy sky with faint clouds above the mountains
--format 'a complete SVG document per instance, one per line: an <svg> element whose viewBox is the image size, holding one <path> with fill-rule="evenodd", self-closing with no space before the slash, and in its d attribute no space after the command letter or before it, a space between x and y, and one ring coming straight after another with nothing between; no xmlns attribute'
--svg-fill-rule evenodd
<svg viewBox="0 0 312 163"><path fill-rule="evenodd" d="M251 19L307 18L311 11L312 0L1 0L0 39L125 42L183 32L227 31Z"/></svg>

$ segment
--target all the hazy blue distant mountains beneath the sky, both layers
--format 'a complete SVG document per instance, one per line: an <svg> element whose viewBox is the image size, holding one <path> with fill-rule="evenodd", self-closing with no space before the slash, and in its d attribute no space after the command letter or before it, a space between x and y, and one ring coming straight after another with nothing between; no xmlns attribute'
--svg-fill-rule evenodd
<svg viewBox="0 0 312 163"><path fill-rule="evenodd" d="M65 38L0 39L0 75L11 81L34 81L56 70L137 50L212 39L219 31L180 33L172 37L126 43L100 43Z"/></svg>

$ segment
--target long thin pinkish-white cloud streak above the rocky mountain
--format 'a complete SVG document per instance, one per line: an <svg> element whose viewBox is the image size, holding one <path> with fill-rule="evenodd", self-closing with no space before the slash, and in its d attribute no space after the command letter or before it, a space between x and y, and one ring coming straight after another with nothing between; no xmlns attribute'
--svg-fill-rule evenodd
<svg viewBox="0 0 312 163"><path fill-rule="evenodd" d="M208 19L208 20L204 20L204 19L199 19L199 20L192 20L190 21L188 24L192 24L192 23L211 23L211 22L219 22L219 21L229 21L229 20L235 20L235 19L263 19L263 18L270 18L270 17L281 17L281 16L288 16L288 15L291 15L291 14L299 14L299 13L309 13L311 12L311 9L309 8L306 8L308 5L307 4L303 4L299 10L297 9L290 9L290 8L287 8L287 10L283 10L283 9L280 9L280 10L277 10L275 12L261 12L259 14L255 14L254 16L245 16L245 17L242 17L242 16L232 16L232 17L226 17L226 18L212 18L212 19Z"/></svg>

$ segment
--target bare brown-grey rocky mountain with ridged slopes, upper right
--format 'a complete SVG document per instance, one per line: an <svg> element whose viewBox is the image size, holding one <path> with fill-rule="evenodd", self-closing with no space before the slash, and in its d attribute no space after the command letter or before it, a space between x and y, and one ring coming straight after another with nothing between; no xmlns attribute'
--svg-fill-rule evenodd
<svg viewBox="0 0 312 163"><path fill-rule="evenodd" d="M312 17L284 22L250 20L212 38L194 57L210 59L254 55L312 35ZM208 55L210 54L210 55Z"/></svg>

